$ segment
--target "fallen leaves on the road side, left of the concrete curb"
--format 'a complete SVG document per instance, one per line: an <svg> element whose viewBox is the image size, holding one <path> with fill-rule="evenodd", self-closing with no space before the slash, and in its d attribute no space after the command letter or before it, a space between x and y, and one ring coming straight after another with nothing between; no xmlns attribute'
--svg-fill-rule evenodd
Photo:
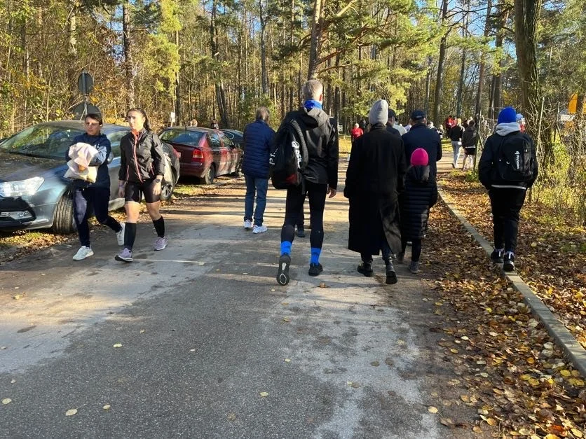
<svg viewBox="0 0 586 439"><path fill-rule="evenodd" d="M484 195L459 195L476 198L482 218ZM463 402L499 437L586 438L585 378L443 203L432 209L425 253L435 314L446 321L439 346L468 388Z"/></svg>

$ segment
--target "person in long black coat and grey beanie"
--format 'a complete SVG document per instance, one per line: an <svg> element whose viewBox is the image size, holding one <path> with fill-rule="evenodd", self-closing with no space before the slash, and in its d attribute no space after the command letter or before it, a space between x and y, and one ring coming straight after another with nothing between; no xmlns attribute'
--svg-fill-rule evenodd
<svg viewBox="0 0 586 439"><path fill-rule="evenodd" d="M386 130L388 103L376 101L369 113L372 128L350 152L344 196L350 200L348 249L360 253L358 272L372 277L372 256L383 253L386 283L396 284L391 259L401 246L398 194L406 162L400 136Z"/></svg>

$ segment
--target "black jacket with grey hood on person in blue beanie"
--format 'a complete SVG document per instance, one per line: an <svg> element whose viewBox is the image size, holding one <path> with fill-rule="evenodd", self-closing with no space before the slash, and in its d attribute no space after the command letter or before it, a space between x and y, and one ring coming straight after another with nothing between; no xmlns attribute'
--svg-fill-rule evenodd
<svg viewBox="0 0 586 439"><path fill-rule="evenodd" d="M531 144L531 155L533 155L533 176L529 181L520 181L511 183L510 181L503 181L500 178L498 171L496 169L496 160L498 158L498 153L501 144L503 144L503 138L505 136L522 136L529 141ZM486 142L484 143L484 149L482 150L482 155L480 156L480 160L478 162L478 179L482 186L486 189L490 188L517 188L526 190L526 188L531 188L533 183L535 183L538 176L538 164L536 158L536 149L535 144L533 144L533 139L529 137L529 134L525 134L524 132L520 131L519 124L517 122L510 122L510 123L499 123L496 125L496 130L494 131Z"/></svg>

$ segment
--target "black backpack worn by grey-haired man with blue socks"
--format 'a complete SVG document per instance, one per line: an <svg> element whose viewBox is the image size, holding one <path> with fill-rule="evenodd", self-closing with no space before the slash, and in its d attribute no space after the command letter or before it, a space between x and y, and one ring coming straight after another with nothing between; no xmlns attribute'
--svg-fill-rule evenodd
<svg viewBox="0 0 586 439"><path fill-rule="evenodd" d="M299 120L294 117L283 120L273 137L268 159L273 187L287 189L301 185L308 160L307 145Z"/></svg>

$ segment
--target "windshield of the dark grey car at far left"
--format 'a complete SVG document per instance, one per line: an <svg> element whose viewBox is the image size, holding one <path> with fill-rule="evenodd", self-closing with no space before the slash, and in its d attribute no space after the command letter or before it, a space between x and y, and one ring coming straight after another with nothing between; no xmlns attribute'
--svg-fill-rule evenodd
<svg viewBox="0 0 586 439"><path fill-rule="evenodd" d="M34 125L4 141L0 144L0 150L11 154L63 160L74 137L79 134L83 134L83 130L56 125Z"/></svg>

